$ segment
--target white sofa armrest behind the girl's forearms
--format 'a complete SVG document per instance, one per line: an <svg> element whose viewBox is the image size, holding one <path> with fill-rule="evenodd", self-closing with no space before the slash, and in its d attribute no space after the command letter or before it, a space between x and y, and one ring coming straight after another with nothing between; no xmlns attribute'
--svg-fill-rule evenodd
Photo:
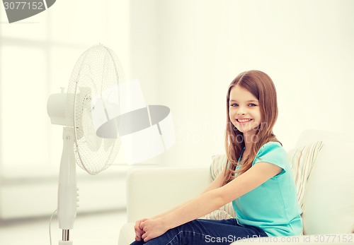
<svg viewBox="0 0 354 245"><path fill-rule="evenodd" d="M180 205L198 196L211 181L209 167L132 169L127 174L127 222Z"/></svg>

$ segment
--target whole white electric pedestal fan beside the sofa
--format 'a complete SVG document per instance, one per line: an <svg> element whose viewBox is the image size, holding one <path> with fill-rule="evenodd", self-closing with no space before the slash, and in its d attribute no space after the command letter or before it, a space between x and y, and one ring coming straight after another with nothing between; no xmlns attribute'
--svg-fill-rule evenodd
<svg viewBox="0 0 354 245"><path fill-rule="evenodd" d="M57 206L62 229L59 244L72 244L69 230L74 227L79 196L76 163L89 174L98 174L112 164L120 150L118 89L123 80L117 56L98 44L76 61L67 93L62 90L48 98L51 123L64 126Z"/></svg>

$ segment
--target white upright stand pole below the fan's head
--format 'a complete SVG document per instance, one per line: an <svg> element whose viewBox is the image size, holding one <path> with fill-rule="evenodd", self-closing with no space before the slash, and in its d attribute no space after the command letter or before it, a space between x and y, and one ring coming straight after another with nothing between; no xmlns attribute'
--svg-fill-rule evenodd
<svg viewBox="0 0 354 245"><path fill-rule="evenodd" d="M59 245L72 245L72 241L69 241L69 229L74 228L77 196L74 129L72 127L64 127L58 186L57 213L59 228L62 229L62 241L59 241Z"/></svg>

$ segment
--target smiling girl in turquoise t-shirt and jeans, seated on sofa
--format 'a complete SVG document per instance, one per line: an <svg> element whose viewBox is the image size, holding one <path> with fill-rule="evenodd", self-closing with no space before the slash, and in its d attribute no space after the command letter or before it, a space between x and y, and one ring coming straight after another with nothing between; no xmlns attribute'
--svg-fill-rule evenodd
<svg viewBox="0 0 354 245"><path fill-rule="evenodd" d="M227 91L227 166L200 196L138 220L132 244L230 244L237 239L302 232L301 210L287 153L273 134L275 86L261 71L239 74ZM198 217L232 202L236 217Z"/></svg>

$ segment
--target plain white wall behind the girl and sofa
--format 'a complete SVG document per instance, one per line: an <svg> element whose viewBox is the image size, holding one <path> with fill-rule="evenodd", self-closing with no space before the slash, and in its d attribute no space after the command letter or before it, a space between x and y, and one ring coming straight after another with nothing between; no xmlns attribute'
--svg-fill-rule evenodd
<svg viewBox="0 0 354 245"><path fill-rule="evenodd" d="M131 69L150 103L171 107L169 165L207 165L224 151L225 95L241 71L273 78L275 134L353 124L353 1L131 1ZM155 160L156 160L155 159Z"/></svg>

